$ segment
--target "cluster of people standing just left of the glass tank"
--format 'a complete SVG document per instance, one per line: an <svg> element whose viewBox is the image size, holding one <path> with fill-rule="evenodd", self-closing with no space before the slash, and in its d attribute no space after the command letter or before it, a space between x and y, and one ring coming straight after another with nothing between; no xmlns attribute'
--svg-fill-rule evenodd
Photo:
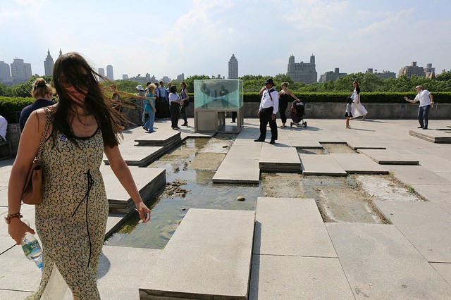
<svg viewBox="0 0 451 300"><path fill-rule="evenodd" d="M190 96L188 94L186 82L180 83L180 93L177 87L168 83L168 87L164 86L164 82L154 84L147 82L146 89L142 85L135 87L137 93L137 106L140 113L144 130L149 133L155 132L154 121L156 118L171 118L171 127L178 130L178 119L180 115L183 118L182 126L188 125L186 108L190 104Z"/></svg>

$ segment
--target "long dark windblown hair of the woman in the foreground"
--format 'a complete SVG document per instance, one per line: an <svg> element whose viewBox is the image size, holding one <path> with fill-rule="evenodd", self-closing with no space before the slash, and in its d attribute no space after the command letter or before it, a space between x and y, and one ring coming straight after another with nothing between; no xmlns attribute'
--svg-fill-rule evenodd
<svg viewBox="0 0 451 300"><path fill-rule="evenodd" d="M63 85L60 78L66 77L70 85L78 92L85 94L85 110L92 113L99 124L104 139L104 145L116 146L119 138L123 137L121 132L121 114L113 108L113 102L104 93L97 77L108 80L106 77L96 73L87 63L85 58L76 52L70 52L58 57L54 64L53 82L58 93L58 104L53 111L53 129L51 137L55 143L56 133L63 135L78 145L70 126L70 115L76 112L77 104L70 97L70 93Z"/></svg>

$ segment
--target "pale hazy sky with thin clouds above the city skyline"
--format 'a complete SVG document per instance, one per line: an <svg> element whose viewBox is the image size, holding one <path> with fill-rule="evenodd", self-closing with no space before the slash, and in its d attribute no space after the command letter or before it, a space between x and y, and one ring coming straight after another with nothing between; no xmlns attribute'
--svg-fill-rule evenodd
<svg viewBox="0 0 451 300"><path fill-rule="evenodd" d="M287 72L288 58L319 75L373 68L397 73L416 61L451 69L450 0L1 0L0 61L22 58L44 74L78 51L115 79Z"/></svg>

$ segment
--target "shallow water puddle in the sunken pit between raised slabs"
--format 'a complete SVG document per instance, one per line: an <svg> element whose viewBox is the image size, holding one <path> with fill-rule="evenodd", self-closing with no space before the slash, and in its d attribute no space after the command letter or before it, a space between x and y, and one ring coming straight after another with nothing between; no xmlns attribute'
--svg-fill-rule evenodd
<svg viewBox="0 0 451 300"><path fill-rule="evenodd" d="M177 149L154 161L149 168L166 169L166 187L153 199L152 218L140 223L137 215L125 222L105 244L163 249L188 208L254 210L260 185L214 184L212 178L236 135L187 139ZM245 201L237 201L244 196Z"/></svg>

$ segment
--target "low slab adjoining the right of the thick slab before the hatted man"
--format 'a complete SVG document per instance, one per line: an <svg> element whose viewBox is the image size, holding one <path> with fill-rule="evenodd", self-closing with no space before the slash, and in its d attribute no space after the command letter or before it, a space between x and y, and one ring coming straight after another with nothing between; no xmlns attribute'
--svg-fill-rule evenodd
<svg viewBox="0 0 451 300"><path fill-rule="evenodd" d="M330 155L299 154L299 158L301 158L302 174L304 175L347 175L345 169Z"/></svg>

